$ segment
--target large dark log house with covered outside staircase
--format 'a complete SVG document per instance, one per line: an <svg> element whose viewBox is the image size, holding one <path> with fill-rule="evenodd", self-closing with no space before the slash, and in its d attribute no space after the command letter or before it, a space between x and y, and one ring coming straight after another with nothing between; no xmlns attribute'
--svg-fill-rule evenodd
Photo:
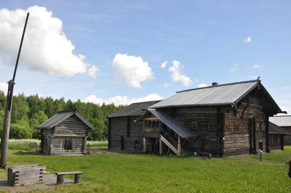
<svg viewBox="0 0 291 193"><path fill-rule="evenodd" d="M286 113L259 79L221 85L213 82L154 103L134 118L109 115L109 148L126 149L127 137L130 147L160 154L211 153L223 158L257 154L259 149L270 152L269 117ZM122 113L129 115L130 108Z"/></svg>

